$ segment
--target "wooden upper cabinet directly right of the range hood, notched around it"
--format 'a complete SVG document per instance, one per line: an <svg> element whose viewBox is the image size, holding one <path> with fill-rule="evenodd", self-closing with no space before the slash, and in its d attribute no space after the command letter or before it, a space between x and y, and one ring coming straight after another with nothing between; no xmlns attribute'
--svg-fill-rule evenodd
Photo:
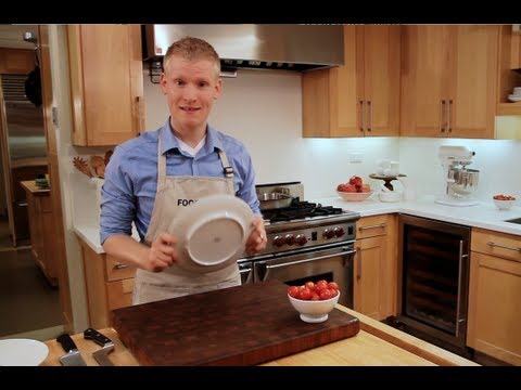
<svg viewBox="0 0 521 390"><path fill-rule="evenodd" d="M398 135L401 26L344 26L344 66L302 76L303 135Z"/></svg>

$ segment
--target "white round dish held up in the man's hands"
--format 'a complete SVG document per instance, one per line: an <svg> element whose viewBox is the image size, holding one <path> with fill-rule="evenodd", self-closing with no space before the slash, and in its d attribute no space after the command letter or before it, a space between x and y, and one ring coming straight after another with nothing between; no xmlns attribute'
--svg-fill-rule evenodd
<svg viewBox="0 0 521 390"><path fill-rule="evenodd" d="M177 264L204 273L233 263L244 252L254 218L250 206L232 195L211 195L182 209L169 229L178 238Z"/></svg>

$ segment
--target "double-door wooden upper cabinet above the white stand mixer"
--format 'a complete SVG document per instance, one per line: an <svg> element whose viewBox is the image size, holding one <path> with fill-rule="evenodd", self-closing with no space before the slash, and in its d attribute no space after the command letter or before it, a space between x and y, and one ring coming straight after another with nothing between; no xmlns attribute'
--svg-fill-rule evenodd
<svg viewBox="0 0 521 390"><path fill-rule="evenodd" d="M499 31L403 27L401 135L494 138Z"/></svg>

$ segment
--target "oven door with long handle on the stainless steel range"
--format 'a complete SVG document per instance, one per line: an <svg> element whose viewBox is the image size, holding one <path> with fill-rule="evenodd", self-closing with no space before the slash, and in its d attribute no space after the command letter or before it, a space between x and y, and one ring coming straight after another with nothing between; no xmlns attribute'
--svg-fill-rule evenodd
<svg viewBox="0 0 521 390"><path fill-rule="evenodd" d="M334 281L342 292L339 303L352 309L354 256L355 248L351 243L278 255L270 260L254 261L254 280L279 280L291 286L307 281Z"/></svg>

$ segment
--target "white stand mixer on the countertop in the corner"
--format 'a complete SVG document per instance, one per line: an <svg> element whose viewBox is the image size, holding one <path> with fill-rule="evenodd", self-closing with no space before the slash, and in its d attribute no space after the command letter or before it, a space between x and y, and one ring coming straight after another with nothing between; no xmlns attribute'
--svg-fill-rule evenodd
<svg viewBox="0 0 521 390"><path fill-rule="evenodd" d="M475 191L479 170L468 169L474 152L467 146L442 145L439 157L442 161L446 181L445 193L435 202L448 206L474 206L478 200L471 194Z"/></svg>

